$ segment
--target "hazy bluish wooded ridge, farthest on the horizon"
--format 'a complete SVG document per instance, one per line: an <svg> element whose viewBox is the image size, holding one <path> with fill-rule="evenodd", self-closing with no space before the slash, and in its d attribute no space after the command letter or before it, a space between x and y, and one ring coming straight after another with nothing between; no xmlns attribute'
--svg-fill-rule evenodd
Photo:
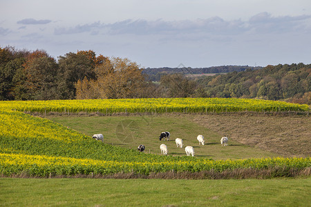
<svg viewBox="0 0 311 207"><path fill-rule="evenodd" d="M209 68L191 68L191 67L180 67L180 68L146 68L144 74L148 76L149 81L160 81L164 75L182 73L185 75L189 74L204 74L204 73L227 73L227 72L241 72L244 70L258 70L262 67L252 66L214 66Z"/></svg>

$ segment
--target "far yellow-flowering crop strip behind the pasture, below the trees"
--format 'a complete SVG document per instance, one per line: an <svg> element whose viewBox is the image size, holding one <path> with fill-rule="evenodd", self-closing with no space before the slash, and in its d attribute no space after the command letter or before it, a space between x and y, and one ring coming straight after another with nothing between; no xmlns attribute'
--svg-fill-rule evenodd
<svg viewBox="0 0 311 207"><path fill-rule="evenodd" d="M308 105L259 99L167 98L1 101L0 110L30 112L238 112L306 111Z"/></svg>

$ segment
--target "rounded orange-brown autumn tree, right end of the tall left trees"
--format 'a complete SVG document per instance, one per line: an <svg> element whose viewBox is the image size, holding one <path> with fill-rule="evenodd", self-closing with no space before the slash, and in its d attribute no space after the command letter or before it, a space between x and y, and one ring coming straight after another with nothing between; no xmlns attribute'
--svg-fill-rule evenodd
<svg viewBox="0 0 311 207"><path fill-rule="evenodd" d="M96 79L77 82L77 99L138 98L146 87L142 69L129 59L113 57L95 67Z"/></svg>

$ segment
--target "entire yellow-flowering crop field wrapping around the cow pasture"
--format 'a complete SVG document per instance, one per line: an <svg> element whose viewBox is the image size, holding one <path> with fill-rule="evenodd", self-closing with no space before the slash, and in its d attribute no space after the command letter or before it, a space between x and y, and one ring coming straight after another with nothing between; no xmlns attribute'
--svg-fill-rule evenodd
<svg viewBox="0 0 311 207"><path fill-rule="evenodd" d="M70 111L88 110L121 110L128 108L129 112L141 111L147 107L150 110L164 112L180 111L185 107L195 112L205 110L211 106L207 101L214 101L212 108L229 110L241 110L243 103L236 103L239 99L120 99L120 100L72 100L72 101L1 101L0 102L0 175L28 175L47 177L49 175L111 175L117 172L134 172L149 175L151 172L200 172L214 170L235 169L304 169L311 167L311 159L307 158L265 158L265 159L237 159L237 160L212 160L201 157L173 157L140 153L104 144L91 139L82 133L53 121L32 117L24 114L23 110L39 111L62 111L68 108ZM219 106L215 101L220 101ZM179 103L179 102L180 103ZM198 102L202 101L202 102ZM231 105L229 102L232 101ZM253 100L245 106L250 109ZM204 104L205 105L204 105ZM256 101L254 101L256 103ZM265 101L263 106L266 104ZM114 105L115 104L115 105ZM154 106L153 106L154 104ZM178 105L179 104L179 105ZM202 106L199 106L203 104ZM225 104L225 105L221 105ZM238 104L241 104L239 106ZM248 105L247 105L248 104ZM273 108L300 107L303 105L285 105L276 102ZM282 105L284 104L284 105ZM175 106L176 105L176 106ZM196 105L196 107L195 107ZM191 108L193 106L193 108ZM231 106L232 108L230 108ZM261 106L260 104L256 105ZM141 107L141 108L140 108ZM201 107L201 108L200 108ZM265 106L267 110L267 106ZM256 108L256 107L255 107ZM255 110L254 108L254 110ZM15 109L16 111L12 111ZM210 110L210 109L209 109Z"/></svg>

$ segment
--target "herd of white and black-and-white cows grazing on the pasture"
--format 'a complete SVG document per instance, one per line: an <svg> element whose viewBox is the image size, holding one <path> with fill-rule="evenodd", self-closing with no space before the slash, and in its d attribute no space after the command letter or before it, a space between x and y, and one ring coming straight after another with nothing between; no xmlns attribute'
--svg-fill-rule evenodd
<svg viewBox="0 0 311 207"><path fill-rule="evenodd" d="M161 141L162 139L165 140L165 138L167 138L167 141L169 141L170 135L171 134L169 132L162 132L160 134L159 139ZM93 139L101 140L102 142L104 142L104 136L102 134L95 134L95 135L93 135ZM204 140L203 135L198 135L198 137L196 137L196 139L198 139L199 145L204 145L205 144L205 140ZM176 142L176 146L178 148L182 148L182 146L183 146L182 139L176 138L175 142ZM228 137L227 136L221 137L220 144L221 144L221 146L227 146L228 145ZM140 144L140 146L138 146L137 149L138 149L138 151L143 152L145 150L145 146ZM167 153L169 152L167 150L167 145L166 144L161 144L160 145L160 150L161 150L161 154L162 155L167 155ZM193 146L186 146L185 147L185 151L186 151L187 156L191 155L192 157L194 157L194 147Z"/></svg>

